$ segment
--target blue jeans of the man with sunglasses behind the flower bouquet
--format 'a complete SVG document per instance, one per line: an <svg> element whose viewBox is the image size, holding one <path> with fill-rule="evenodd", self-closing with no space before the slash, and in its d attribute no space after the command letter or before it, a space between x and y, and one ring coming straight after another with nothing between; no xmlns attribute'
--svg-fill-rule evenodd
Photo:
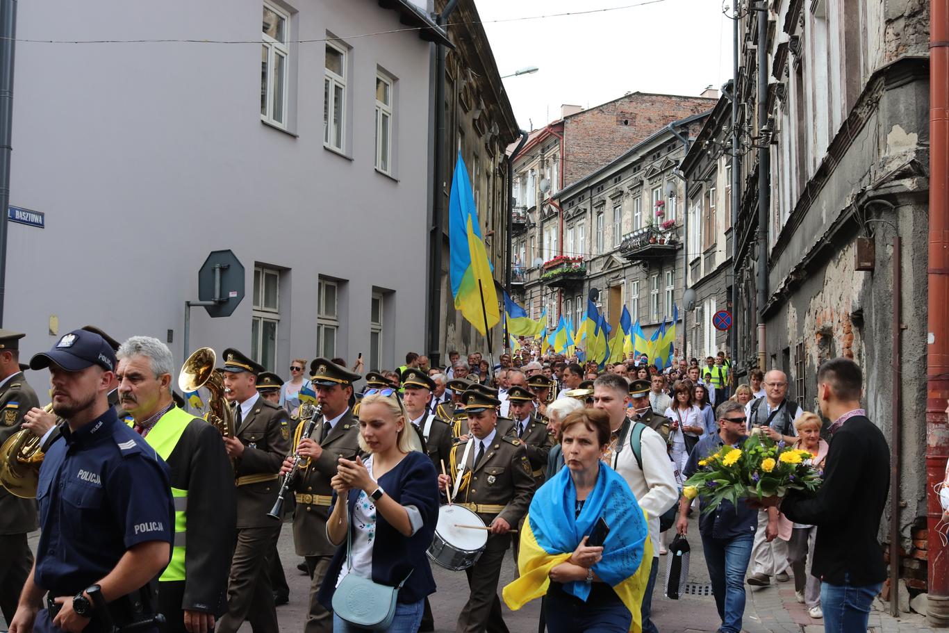
<svg viewBox="0 0 949 633"><path fill-rule="evenodd" d="M741 630L741 618L745 615L745 572L752 559L753 545L754 533L727 539L702 536L705 565L709 568L712 593L721 618L720 630L726 633Z"/></svg>

